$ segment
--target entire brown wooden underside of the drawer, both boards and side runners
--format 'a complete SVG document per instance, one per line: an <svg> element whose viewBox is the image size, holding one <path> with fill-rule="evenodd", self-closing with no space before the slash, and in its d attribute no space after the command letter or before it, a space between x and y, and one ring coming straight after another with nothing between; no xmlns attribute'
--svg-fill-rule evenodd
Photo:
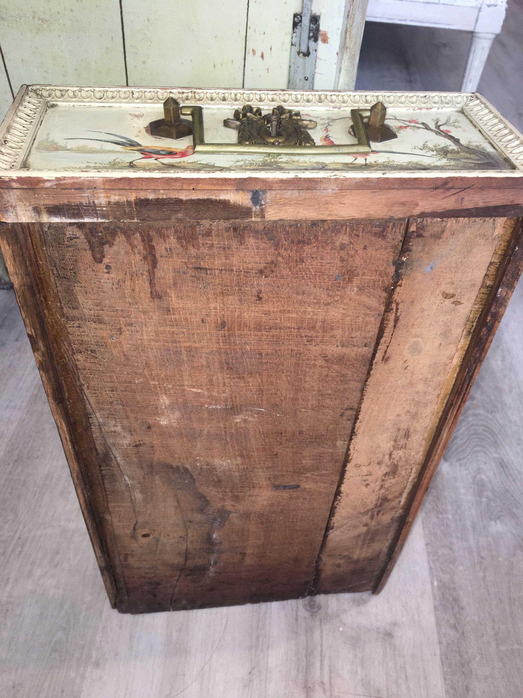
<svg viewBox="0 0 523 698"><path fill-rule="evenodd" d="M119 610L381 588L515 220L4 224Z"/></svg>

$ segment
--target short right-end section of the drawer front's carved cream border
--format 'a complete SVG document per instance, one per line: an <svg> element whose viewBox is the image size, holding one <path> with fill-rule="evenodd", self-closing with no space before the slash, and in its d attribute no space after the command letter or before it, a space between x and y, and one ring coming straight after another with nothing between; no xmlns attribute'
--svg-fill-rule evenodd
<svg viewBox="0 0 523 698"><path fill-rule="evenodd" d="M503 119L492 104L482 96L473 94L464 112L518 170L523 170L523 136Z"/></svg>

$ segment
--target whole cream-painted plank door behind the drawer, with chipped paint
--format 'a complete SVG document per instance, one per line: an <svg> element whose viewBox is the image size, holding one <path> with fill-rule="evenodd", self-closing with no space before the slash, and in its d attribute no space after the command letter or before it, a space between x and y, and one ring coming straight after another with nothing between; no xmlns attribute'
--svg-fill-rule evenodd
<svg viewBox="0 0 523 698"><path fill-rule="evenodd" d="M321 16L314 89L335 87L344 17L359 2L314 0ZM0 118L24 83L286 88L292 18L301 6L0 0Z"/></svg>

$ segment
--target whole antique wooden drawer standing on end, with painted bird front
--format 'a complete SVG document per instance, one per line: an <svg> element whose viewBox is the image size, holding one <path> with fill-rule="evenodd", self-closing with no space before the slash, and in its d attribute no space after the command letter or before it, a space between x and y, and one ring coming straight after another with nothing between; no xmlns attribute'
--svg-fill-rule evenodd
<svg viewBox="0 0 523 698"><path fill-rule="evenodd" d="M520 134L476 94L33 85L0 138L112 603L379 591L520 274Z"/></svg>

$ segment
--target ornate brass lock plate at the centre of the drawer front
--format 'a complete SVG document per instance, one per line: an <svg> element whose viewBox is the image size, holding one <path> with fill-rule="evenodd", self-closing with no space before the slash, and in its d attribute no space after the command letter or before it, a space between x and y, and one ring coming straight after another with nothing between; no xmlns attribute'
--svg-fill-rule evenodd
<svg viewBox="0 0 523 698"><path fill-rule="evenodd" d="M314 145L305 129L316 128L313 119L302 119L300 112L278 105L270 114L261 114L259 107L245 104L232 119L224 119L227 128L238 129L238 143L245 145Z"/></svg>

